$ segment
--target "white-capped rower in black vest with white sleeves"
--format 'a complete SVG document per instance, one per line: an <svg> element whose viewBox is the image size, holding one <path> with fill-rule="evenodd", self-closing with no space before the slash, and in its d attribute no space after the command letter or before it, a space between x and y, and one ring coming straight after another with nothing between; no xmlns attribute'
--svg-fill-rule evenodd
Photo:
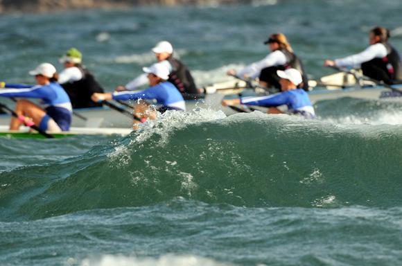
<svg viewBox="0 0 402 266"><path fill-rule="evenodd" d="M170 42L159 42L154 48L152 48L152 52L155 53L158 62L166 64L166 67L168 67L170 72L168 82L171 82L175 87L177 87L184 99L195 100L197 98L204 98L204 95L200 94L195 86L193 76L191 76L186 65L173 57L173 46ZM116 87L116 91L132 91L146 85L147 82L146 75L141 75L125 86Z"/></svg>

